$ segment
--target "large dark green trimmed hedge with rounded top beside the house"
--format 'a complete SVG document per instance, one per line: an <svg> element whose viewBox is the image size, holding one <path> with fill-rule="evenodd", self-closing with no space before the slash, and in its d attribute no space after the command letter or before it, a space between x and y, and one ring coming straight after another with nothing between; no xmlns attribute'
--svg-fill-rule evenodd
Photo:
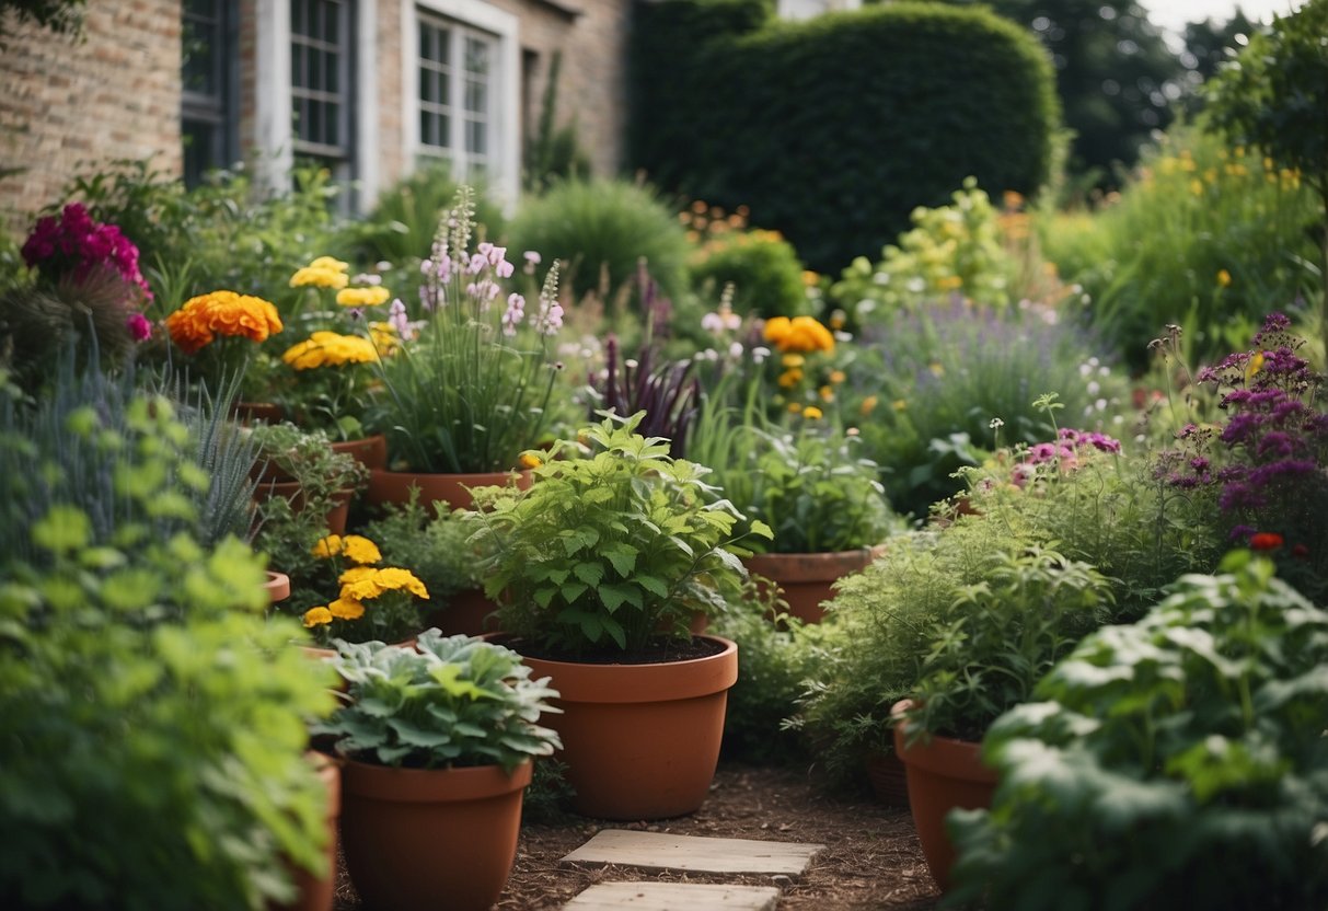
<svg viewBox="0 0 1328 911"><path fill-rule="evenodd" d="M746 205L822 272L874 255L965 177L1032 195L1050 170L1052 64L987 9L776 23L761 0L645 3L633 58L635 163L664 189Z"/></svg>

